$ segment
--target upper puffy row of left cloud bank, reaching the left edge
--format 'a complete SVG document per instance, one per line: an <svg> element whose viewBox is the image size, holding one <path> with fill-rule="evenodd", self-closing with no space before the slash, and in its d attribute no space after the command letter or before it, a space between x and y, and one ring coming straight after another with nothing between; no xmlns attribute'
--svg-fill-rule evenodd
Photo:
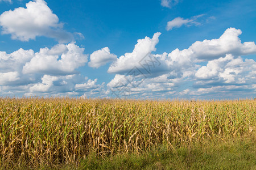
<svg viewBox="0 0 256 170"><path fill-rule="evenodd" d="M76 69L87 62L84 48L75 43L58 44L51 49L19 49L11 54L0 52L1 73L18 72L20 74L67 75L77 73Z"/></svg>

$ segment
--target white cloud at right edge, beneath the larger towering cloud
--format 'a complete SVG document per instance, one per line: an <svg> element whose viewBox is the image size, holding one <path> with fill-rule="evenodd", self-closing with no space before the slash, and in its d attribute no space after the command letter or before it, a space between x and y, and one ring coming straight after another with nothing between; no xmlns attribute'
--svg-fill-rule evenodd
<svg viewBox="0 0 256 170"><path fill-rule="evenodd" d="M224 58L209 61L207 66L202 66L197 70L195 76L198 79L210 79L210 81L198 82L203 84L211 83L212 80L219 84L244 84L252 81L256 83L255 69L256 62L253 59L243 61L241 57L234 58L234 56L228 54Z"/></svg>

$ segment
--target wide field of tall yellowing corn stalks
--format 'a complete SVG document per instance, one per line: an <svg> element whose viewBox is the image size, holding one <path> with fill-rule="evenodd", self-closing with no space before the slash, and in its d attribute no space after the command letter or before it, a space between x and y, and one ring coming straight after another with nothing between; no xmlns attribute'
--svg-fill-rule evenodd
<svg viewBox="0 0 256 170"><path fill-rule="evenodd" d="M255 138L256 100L0 99L0 163L77 163L90 152Z"/></svg>

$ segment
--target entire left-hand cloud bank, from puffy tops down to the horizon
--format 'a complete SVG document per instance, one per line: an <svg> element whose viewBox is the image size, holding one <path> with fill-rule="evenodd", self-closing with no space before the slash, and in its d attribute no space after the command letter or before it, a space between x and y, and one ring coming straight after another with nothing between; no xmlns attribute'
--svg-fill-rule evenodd
<svg viewBox="0 0 256 170"><path fill-rule="evenodd" d="M77 68L87 62L84 48L58 44L39 52L0 52L0 94L15 96L101 96L104 83L87 80Z"/></svg>

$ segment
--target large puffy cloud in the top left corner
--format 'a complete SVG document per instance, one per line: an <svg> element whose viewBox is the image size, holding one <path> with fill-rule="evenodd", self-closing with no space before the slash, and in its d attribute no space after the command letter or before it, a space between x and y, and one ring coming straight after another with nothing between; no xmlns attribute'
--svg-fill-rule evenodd
<svg viewBox="0 0 256 170"><path fill-rule="evenodd" d="M59 18L45 1L30 1L26 7L15 8L0 15L3 34L10 34L12 39L21 41L35 40L37 36L51 37L59 42L73 40L72 33L64 31L63 23L59 23Z"/></svg>

